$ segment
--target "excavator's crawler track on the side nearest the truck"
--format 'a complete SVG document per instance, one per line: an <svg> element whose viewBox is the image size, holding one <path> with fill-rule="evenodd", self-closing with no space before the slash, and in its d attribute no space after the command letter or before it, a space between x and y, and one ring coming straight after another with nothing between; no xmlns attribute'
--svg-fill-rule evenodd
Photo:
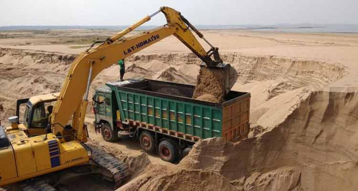
<svg viewBox="0 0 358 191"><path fill-rule="evenodd" d="M94 145L86 144L92 151L91 161L101 168L107 169L107 174L103 174L107 179L115 183L115 188L124 185L130 178L129 167L121 160L103 151Z"/></svg>

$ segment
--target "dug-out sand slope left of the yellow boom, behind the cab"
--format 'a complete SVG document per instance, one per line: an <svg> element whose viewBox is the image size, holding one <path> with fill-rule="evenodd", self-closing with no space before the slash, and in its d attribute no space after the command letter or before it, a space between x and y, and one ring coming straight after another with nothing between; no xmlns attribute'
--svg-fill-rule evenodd
<svg viewBox="0 0 358 191"><path fill-rule="evenodd" d="M16 100L58 92L76 55L0 48L0 120L15 115Z"/></svg>

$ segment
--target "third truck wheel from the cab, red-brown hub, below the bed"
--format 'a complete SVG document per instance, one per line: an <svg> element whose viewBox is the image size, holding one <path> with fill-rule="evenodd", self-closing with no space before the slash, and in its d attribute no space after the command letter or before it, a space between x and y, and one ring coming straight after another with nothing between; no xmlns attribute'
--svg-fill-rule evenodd
<svg viewBox="0 0 358 191"><path fill-rule="evenodd" d="M159 157L166 162L174 162L178 159L178 149L174 141L163 140L158 146Z"/></svg>

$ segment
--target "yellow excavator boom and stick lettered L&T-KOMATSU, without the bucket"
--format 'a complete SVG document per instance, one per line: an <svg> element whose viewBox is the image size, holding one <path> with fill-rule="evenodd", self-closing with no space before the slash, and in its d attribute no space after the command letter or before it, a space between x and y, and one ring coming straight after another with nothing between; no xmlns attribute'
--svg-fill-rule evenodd
<svg viewBox="0 0 358 191"><path fill-rule="evenodd" d="M166 25L124 38L124 35L149 21L151 17L160 12L164 13L166 17ZM211 46L209 51L205 51L190 29ZM218 48L213 47L178 11L168 7L161 7L154 14L146 16L131 27L108 38L105 42L100 42L102 44L95 48L93 48L93 44L89 49L77 56L69 68L66 81L53 108L51 123L54 125L52 126L52 132L58 136L68 135L69 130L66 130L63 126L68 123L73 115L72 130L76 132L77 139L86 142L87 134L83 124L88 104L89 85L92 80L98 73L118 60L129 57L170 35L174 35L184 43L185 46L202 59L207 67L222 67ZM211 58L212 54L214 60Z"/></svg>

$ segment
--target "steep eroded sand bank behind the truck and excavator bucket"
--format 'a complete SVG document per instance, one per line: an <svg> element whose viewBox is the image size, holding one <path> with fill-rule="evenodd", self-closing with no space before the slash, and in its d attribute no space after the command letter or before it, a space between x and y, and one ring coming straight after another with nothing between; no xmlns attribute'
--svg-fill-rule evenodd
<svg viewBox="0 0 358 191"><path fill-rule="evenodd" d="M221 54L223 62L231 64L238 72L238 81L271 80L282 78L290 81L293 88L303 86L323 87L340 79L345 67L339 63L304 58L257 56L241 53ZM197 64L202 61L193 53L188 54L146 54L132 56L130 62L158 60L171 64Z"/></svg>

